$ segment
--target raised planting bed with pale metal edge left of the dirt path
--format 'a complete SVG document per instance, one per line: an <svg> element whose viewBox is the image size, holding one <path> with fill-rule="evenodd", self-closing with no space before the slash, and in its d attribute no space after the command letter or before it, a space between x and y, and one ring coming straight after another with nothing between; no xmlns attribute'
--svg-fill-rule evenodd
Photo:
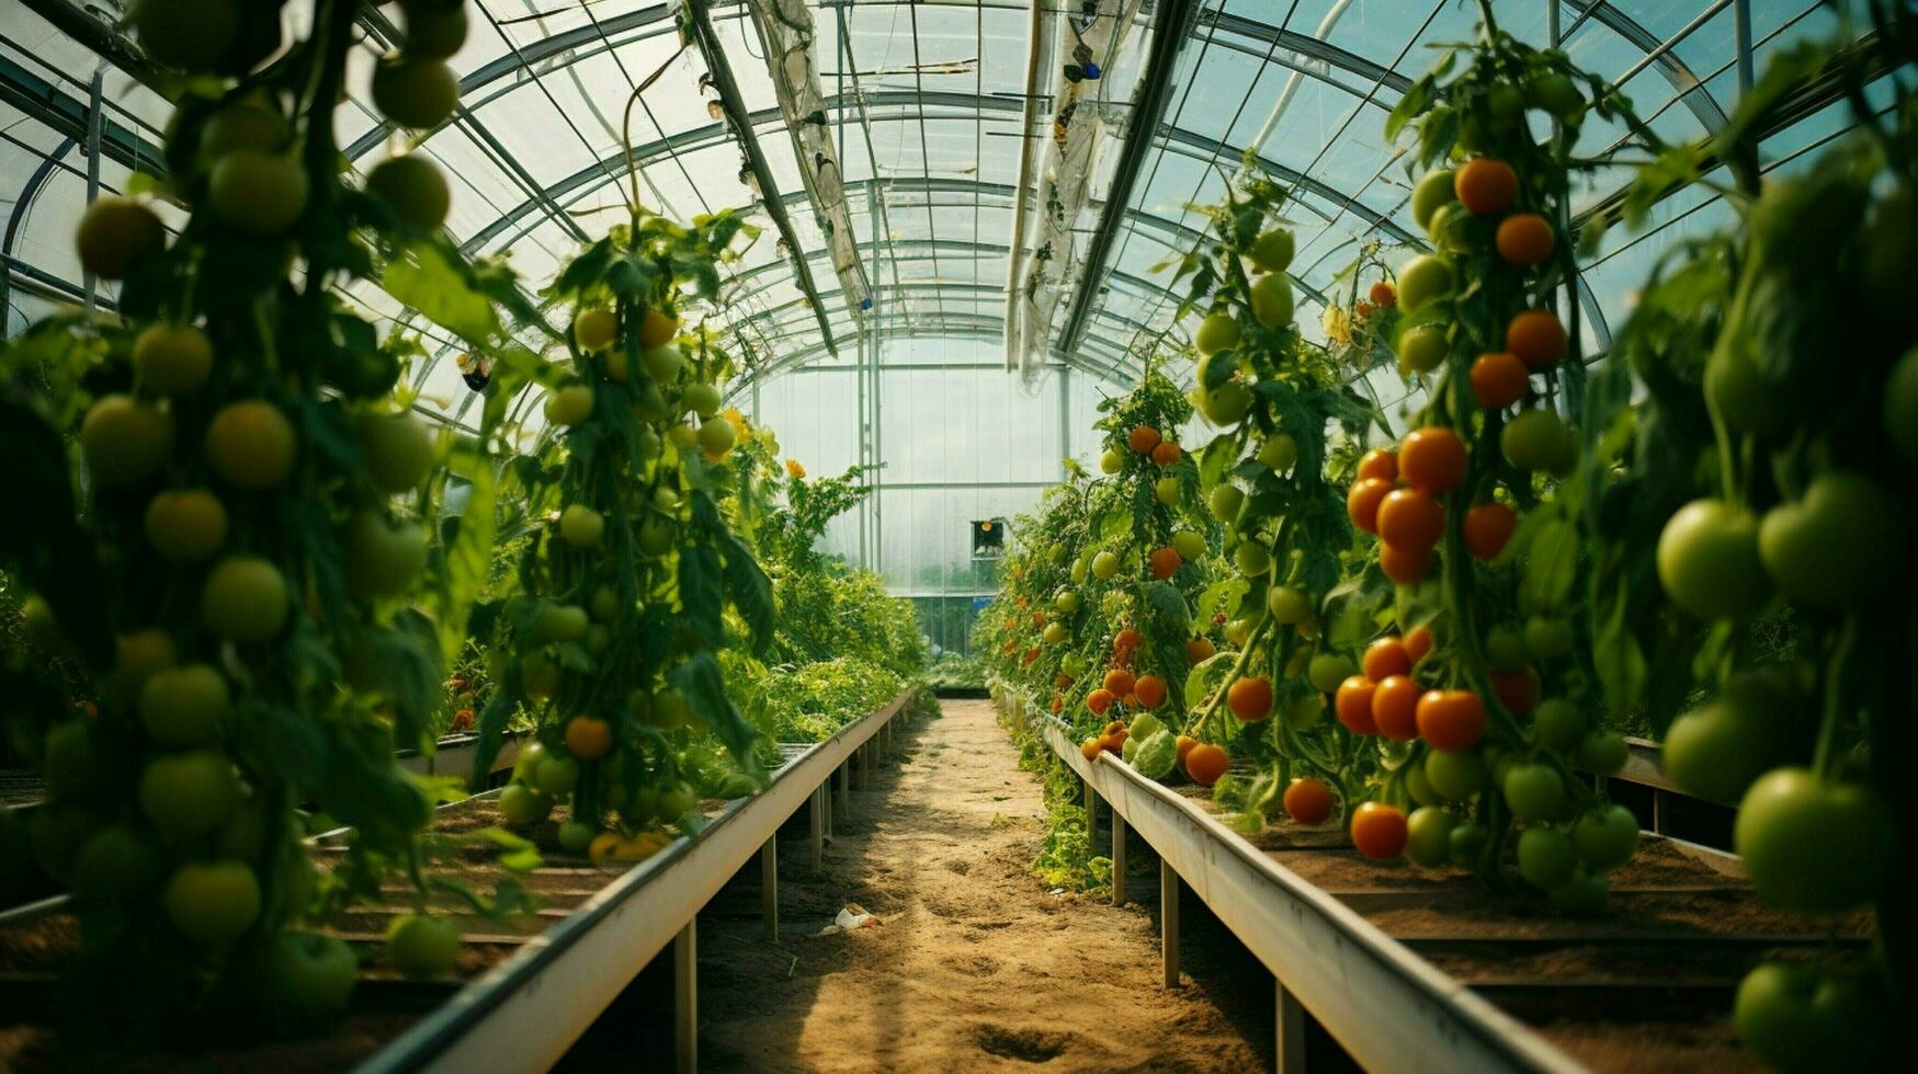
<svg viewBox="0 0 1918 1074"><path fill-rule="evenodd" d="M343 940L364 944L361 988L347 1020L322 1039L222 1051L219 1055L138 1057L140 1068L219 1066L221 1070L545 1070L612 1005L620 992L675 946L675 1024L679 1068L696 1064L694 919L700 907L756 855L763 876L777 876L777 832L809 807L813 861L830 825L832 777L840 807L854 779L890 748L892 719L907 696L844 727L817 744L784 746L784 763L752 798L704 802L708 827L677 838L639 863L595 865L543 850L545 863L516 873L539 898L531 915L489 919L455 896L433 896L435 911L453 915L464 936L455 974L441 982L407 982L376 959L393 917L412 913L410 888L387 888L389 901L355 907L330 924ZM497 792L443 807L437 834L499 827ZM556 848L554 821L529 834ZM338 853L338 834L316 840L324 861ZM487 894L506 875L487 848L462 850L433 873ZM765 884L767 930L777 930L777 882ZM0 1070L58 1068L63 1062L52 1026L59 990L54 970L73 949L77 928L63 899L44 899L0 913Z"/></svg>

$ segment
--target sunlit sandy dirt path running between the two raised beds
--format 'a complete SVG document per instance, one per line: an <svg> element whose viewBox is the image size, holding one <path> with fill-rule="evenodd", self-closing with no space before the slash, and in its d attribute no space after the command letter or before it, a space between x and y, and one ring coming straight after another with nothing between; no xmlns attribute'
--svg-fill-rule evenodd
<svg viewBox="0 0 1918 1074"><path fill-rule="evenodd" d="M1155 884L1111 907L1030 873L1041 790L990 702L946 702L896 744L825 875L788 825L779 946L760 934L756 867L700 915L704 1070L1270 1068L1252 1043L1270 1032L1270 978L1237 967L1160 986ZM1130 873L1149 876L1132 846L1145 861ZM884 924L817 936L844 903ZM1205 974L1205 955L1187 949L1187 967Z"/></svg>

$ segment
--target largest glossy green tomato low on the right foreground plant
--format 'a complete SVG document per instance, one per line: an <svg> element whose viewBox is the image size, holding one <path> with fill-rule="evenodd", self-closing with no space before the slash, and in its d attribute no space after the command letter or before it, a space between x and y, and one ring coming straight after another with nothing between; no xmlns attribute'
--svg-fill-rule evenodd
<svg viewBox="0 0 1918 1074"><path fill-rule="evenodd" d="M1897 823L1876 790L1799 767L1759 777L1732 825L1759 898L1803 913L1839 913L1876 898L1897 844Z"/></svg>

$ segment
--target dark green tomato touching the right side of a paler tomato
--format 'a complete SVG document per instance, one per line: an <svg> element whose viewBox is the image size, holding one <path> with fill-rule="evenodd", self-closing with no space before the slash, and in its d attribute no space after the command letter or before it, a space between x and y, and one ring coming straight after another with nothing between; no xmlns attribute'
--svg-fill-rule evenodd
<svg viewBox="0 0 1918 1074"><path fill-rule="evenodd" d="M1859 608L1889 591L1908 547L1901 504L1862 474L1822 474L1795 502L1765 512L1759 558L1791 600Z"/></svg>

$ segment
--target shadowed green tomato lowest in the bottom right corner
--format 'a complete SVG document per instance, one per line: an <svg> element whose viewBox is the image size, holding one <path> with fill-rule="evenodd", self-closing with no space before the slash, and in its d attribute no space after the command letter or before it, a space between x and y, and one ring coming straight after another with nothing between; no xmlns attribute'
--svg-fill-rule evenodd
<svg viewBox="0 0 1918 1074"><path fill-rule="evenodd" d="M1786 1074L1880 1068L1885 1016L1857 978L1761 963L1732 999L1738 1038Z"/></svg>

